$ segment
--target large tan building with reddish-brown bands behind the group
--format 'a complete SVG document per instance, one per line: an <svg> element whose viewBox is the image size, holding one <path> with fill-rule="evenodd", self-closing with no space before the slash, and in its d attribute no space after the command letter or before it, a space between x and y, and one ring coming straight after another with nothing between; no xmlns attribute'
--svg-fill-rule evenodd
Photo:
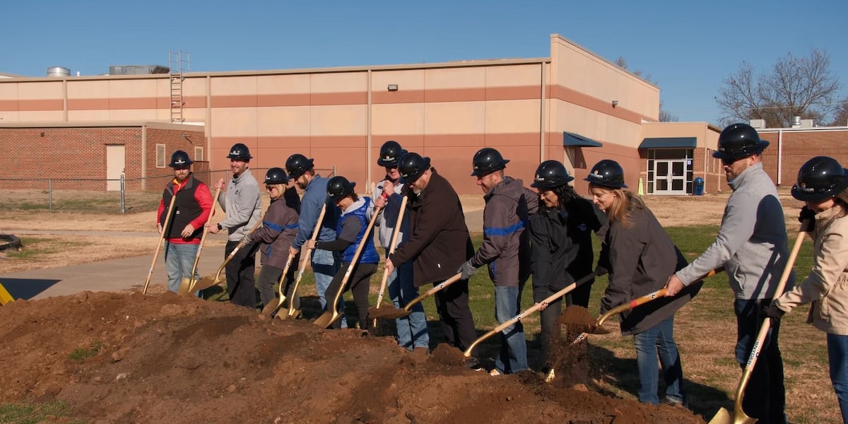
<svg viewBox="0 0 848 424"><path fill-rule="evenodd" d="M645 193L691 193L700 176L706 192L716 191L720 170L711 152L720 129L657 123L659 103L657 86L552 35L550 57L538 59L0 79L0 150L30 140L10 135L21 128L167 125L180 136L188 128L202 131L202 140L192 136L180 146L193 159L208 160L212 170L226 170L228 149L243 142L254 169L282 166L288 155L304 153L316 167L368 185L383 174L376 165L382 142L396 140L431 157L460 193L479 192L469 174L471 156L483 147L499 149L511 160L507 174L526 184L540 161L558 159L577 177L577 192L585 193L583 177L592 165L615 159L633 190L641 179ZM127 137L130 146L142 136ZM106 158L109 146L122 141L87 142ZM53 148L61 151L63 143L56 137ZM161 164L160 155L178 146L165 143L163 151L141 144L126 148L127 166ZM63 159L73 160L51 160ZM159 170L134 169L140 178ZM9 187L8 172L0 174L0 187Z"/></svg>

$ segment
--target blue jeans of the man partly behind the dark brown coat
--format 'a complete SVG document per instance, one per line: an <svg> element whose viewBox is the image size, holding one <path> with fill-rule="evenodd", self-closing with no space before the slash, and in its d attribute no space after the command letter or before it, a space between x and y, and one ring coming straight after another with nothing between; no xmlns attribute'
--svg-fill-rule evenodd
<svg viewBox="0 0 848 424"><path fill-rule="evenodd" d="M403 309L412 299L418 297L418 288L412 280L412 262L400 265L388 276L388 296L395 308ZM427 316L421 302L411 308L410 315L398 318L398 345L405 349L430 348L430 335L427 333Z"/></svg>

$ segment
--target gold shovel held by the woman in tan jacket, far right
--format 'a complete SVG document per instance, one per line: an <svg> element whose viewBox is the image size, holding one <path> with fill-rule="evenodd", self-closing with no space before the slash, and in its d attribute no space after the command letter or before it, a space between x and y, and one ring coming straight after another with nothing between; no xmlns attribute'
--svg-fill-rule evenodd
<svg viewBox="0 0 848 424"><path fill-rule="evenodd" d="M774 299L779 298L780 295L784 292L786 280L789 280L789 274L792 272L792 265L795 265L795 258L798 256L798 252L801 250L801 244L804 243L804 229L807 228L809 223L809 220L804 220L804 222L801 223L801 230L798 231L798 237L795 238L795 245L792 246L792 253L789 254L789 260L786 261L786 266L784 266L784 273L780 276L780 280L778 281L778 287L774 290L772 302L774 302ZM772 321L768 318L763 320L762 326L760 326L760 332L756 334L754 348L750 349L748 362L745 364L745 370L742 371L742 378L739 379L739 387L736 388L736 401L734 402L734 413L731 414L730 412L728 412L728 410L722 408L718 410L715 416L712 417L709 424L754 424L756 422L756 418L751 418L750 416L747 416L745 414L745 411L742 410L742 398L745 397L745 386L748 385L748 380L750 379L751 371L754 371L754 365L756 365L756 358L760 355L760 348L762 347L762 343L766 341L768 328L771 325Z"/></svg>

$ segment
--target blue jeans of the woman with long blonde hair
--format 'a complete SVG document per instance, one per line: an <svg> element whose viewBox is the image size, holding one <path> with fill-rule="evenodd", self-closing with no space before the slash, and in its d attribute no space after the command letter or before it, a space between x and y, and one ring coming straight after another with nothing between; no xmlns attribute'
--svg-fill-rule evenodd
<svg viewBox="0 0 848 424"><path fill-rule="evenodd" d="M633 334L636 365L639 367L639 402L659 404L657 395L660 372L666 382L666 398L683 402L683 368L680 366L678 345L674 343L674 315L644 332ZM659 364L657 357L659 356Z"/></svg>

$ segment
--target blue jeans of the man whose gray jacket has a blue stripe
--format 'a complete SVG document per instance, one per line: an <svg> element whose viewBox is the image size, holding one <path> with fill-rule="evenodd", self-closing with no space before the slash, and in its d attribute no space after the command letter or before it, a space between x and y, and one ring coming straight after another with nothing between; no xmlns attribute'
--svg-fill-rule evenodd
<svg viewBox="0 0 848 424"><path fill-rule="evenodd" d="M522 287L494 287L494 318L498 324L510 321L518 315L522 305ZM521 321L506 327L500 334L500 353L494 366L505 374L525 371L527 368L527 341Z"/></svg>

